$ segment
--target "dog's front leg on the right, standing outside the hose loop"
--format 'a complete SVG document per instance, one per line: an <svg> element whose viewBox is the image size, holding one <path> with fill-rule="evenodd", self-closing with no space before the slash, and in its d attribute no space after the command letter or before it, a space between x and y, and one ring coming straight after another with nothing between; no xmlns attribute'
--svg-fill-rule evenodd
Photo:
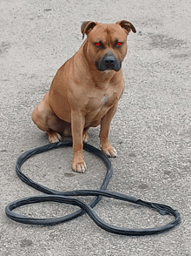
<svg viewBox="0 0 191 256"><path fill-rule="evenodd" d="M109 109L109 111L105 114L105 116L101 120L101 129L100 129L100 147L102 152L106 154L106 156L110 158L115 158L117 153L115 148L109 144L109 128L111 124L111 120L115 115L115 111L117 109L117 103Z"/></svg>

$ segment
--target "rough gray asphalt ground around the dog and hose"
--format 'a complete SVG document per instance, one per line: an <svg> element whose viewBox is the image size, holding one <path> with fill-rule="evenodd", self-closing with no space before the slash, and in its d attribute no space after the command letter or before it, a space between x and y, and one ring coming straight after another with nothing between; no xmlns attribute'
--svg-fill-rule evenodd
<svg viewBox="0 0 191 256"><path fill-rule="evenodd" d="M191 255L190 0L0 1L0 255ZM123 62L126 88L113 119L110 142L118 152L109 191L170 205L181 225L154 236L125 237L103 231L87 215L58 226L27 226L5 216L10 202L41 194L16 176L16 158L48 144L31 112L57 69L82 44L82 21L135 25ZM99 128L89 131L98 147ZM29 159L23 172L56 190L97 189L105 166L85 153L88 171L71 171L70 148ZM89 199L86 199L89 201ZM39 204L16 210L50 218L74 206ZM102 199L95 211L123 227L152 227L172 217Z"/></svg>

